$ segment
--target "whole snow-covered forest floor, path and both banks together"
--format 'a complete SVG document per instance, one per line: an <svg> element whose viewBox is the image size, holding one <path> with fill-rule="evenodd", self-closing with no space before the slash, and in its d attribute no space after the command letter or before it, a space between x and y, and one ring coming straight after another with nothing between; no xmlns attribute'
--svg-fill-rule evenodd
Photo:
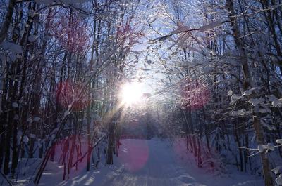
<svg viewBox="0 0 282 186"><path fill-rule="evenodd" d="M122 145L113 166L100 166L86 173L75 172L69 180L62 181L62 168L49 162L39 185L95 185L95 186L228 186L263 185L262 178L237 171L228 174L207 172L197 168L192 154L185 150L182 140L121 141ZM25 185L19 184L19 185Z"/></svg>

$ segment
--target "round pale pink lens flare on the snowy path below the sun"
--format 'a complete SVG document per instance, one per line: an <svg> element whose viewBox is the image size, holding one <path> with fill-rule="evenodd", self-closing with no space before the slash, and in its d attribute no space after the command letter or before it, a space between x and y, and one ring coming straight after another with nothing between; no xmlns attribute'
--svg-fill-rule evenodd
<svg viewBox="0 0 282 186"><path fill-rule="evenodd" d="M122 140L118 161L130 172L140 171L149 158L149 147L145 140Z"/></svg>

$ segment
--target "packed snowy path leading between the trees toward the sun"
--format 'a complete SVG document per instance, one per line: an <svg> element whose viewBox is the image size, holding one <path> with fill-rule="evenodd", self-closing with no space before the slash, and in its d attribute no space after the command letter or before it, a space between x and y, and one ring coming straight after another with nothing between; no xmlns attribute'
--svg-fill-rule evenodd
<svg viewBox="0 0 282 186"><path fill-rule="evenodd" d="M148 147L148 158L144 165L134 164L133 161L143 159L146 154L138 156L134 152L134 141L128 140L123 142L124 150L123 156L130 162L125 162L123 171L118 173L114 178L106 180L105 182L97 183L100 186L113 185L113 186L137 186L137 185L185 185L195 183L195 180L188 175L187 171L180 165L180 162L176 161L175 154L164 142L145 141L136 142L140 145L141 149L145 149L145 145ZM137 146L138 147L138 146ZM130 152L132 150L133 152ZM128 154L126 154L128 153ZM131 153L131 154L130 154ZM132 157L134 155L134 157ZM126 164L129 165L126 165ZM132 164L131 164L132 163ZM142 166L142 167L141 167ZM140 169L139 169L140 168ZM139 169L139 170L138 170ZM192 184L198 185L198 184Z"/></svg>

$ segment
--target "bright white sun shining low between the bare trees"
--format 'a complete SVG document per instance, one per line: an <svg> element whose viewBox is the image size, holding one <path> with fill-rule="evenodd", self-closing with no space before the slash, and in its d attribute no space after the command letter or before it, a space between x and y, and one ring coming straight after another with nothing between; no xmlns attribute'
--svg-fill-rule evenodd
<svg viewBox="0 0 282 186"><path fill-rule="evenodd" d="M123 84L121 87L121 102L123 105L133 105L142 102L144 88L140 82Z"/></svg>

